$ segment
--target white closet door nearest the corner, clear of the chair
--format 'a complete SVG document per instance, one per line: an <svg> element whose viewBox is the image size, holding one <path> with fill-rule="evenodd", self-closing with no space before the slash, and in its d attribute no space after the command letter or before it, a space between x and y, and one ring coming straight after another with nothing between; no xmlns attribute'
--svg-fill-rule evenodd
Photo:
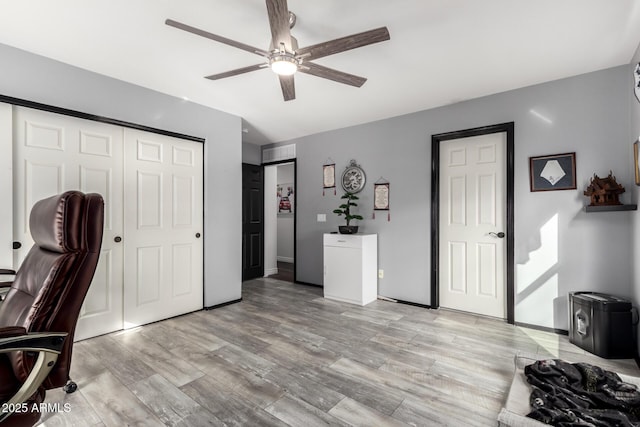
<svg viewBox="0 0 640 427"><path fill-rule="evenodd" d="M125 328L203 307L202 148L125 129Z"/></svg>

